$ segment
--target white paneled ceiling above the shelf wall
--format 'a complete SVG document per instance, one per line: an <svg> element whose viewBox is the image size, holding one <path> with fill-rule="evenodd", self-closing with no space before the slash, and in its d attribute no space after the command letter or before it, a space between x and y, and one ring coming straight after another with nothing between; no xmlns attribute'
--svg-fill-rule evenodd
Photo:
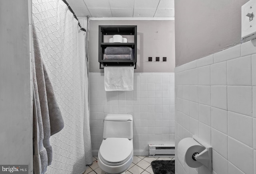
<svg viewBox="0 0 256 174"><path fill-rule="evenodd" d="M174 18L174 0L68 0L78 17Z"/></svg>

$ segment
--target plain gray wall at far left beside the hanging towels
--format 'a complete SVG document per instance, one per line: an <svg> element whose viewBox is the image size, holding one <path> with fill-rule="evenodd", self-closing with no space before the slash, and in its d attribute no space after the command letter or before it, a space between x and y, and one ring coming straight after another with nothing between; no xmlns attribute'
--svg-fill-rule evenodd
<svg viewBox="0 0 256 174"><path fill-rule="evenodd" d="M30 0L0 1L0 164L33 173Z"/></svg>

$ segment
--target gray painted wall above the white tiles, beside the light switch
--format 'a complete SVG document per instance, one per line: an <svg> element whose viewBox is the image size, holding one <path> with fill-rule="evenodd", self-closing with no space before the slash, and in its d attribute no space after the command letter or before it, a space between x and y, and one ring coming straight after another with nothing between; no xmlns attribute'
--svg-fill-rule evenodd
<svg viewBox="0 0 256 174"><path fill-rule="evenodd" d="M248 0L176 0L176 66L240 43L241 6Z"/></svg>

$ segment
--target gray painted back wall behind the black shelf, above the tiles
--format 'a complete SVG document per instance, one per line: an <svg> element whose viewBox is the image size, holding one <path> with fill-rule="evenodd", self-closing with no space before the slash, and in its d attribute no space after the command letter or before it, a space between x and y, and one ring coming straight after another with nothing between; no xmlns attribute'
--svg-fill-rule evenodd
<svg viewBox="0 0 256 174"><path fill-rule="evenodd" d="M98 62L98 25L137 25L137 69L134 72L174 72L175 46L173 20L90 20L89 71L103 72ZM148 57L153 57L148 62ZM160 62L156 62L160 57ZM163 62L162 57L167 57Z"/></svg>

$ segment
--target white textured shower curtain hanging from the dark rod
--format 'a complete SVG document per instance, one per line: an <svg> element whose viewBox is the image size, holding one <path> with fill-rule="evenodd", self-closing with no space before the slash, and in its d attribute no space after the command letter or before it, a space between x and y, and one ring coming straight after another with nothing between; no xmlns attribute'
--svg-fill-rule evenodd
<svg viewBox="0 0 256 174"><path fill-rule="evenodd" d="M50 138L48 174L82 174L92 164L85 35L62 0L32 0L42 59L64 119Z"/></svg>

